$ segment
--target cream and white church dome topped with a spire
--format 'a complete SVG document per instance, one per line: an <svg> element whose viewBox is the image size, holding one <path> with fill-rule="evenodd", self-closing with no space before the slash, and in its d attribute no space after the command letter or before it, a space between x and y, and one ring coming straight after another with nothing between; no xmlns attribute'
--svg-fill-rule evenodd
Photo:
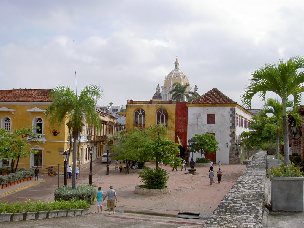
<svg viewBox="0 0 304 228"><path fill-rule="evenodd" d="M176 57L176 61L174 63L174 70L172 70L165 78L164 88L172 87L175 82L179 82L181 85L190 84L188 81L188 77L185 75L183 71L179 69L179 62Z"/></svg>

